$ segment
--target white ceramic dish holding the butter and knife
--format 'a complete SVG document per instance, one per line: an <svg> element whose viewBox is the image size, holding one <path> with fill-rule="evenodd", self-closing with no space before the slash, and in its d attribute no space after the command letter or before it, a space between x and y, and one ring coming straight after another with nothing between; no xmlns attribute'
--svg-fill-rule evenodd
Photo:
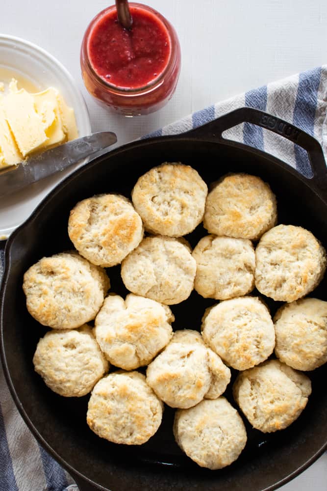
<svg viewBox="0 0 327 491"><path fill-rule="evenodd" d="M49 53L23 39L0 34L0 81L8 74L18 80L25 79L27 84L29 82L37 90L49 86L57 88L66 103L74 108L79 136L91 133L88 110L76 82L66 68ZM0 240L8 238L54 186L84 163L85 161L80 162L60 175L55 174L1 200Z"/></svg>

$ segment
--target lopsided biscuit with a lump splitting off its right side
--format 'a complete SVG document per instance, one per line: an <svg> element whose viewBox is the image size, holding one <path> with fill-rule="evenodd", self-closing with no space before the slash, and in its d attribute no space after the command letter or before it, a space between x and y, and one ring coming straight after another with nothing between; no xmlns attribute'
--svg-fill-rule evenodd
<svg viewBox="0 0 327 491"><path fill-rule="evenodd" d="M190 329L174 332L147 369L147 382L172 408L190 408L203 398L217 398L229 381L230 370L204 345L201 334Z"/></svg>

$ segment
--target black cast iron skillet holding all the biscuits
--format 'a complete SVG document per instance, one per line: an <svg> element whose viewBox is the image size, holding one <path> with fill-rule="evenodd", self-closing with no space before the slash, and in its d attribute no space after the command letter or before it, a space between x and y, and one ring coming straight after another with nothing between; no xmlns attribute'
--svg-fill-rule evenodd
<svg viewBox="0 0 327 491"><path fill-rule="evenodd" d="M268 154L222 137L224 130L244 121L268 128L307 150L312 179ZM246 423L245 450L235 463L217 471L197 466L178 449L172 433L172 409L165 409L161 427L145 445L115 445L88 428L88 396L60 397L33 370L32 356L46 328L26 311L22 292L25 270L42 256L72 247L67 220L69 210L78 200L110 191L128 196L141 174L165 161L192 165L207 183L230 171L261 176L277 194L279 223L302 225L327 246L327 171L323 153L314 138L294 126L245 108L183 135L128 144L77 170L50 193L8 240L0 292L5 376L30 430L72 474L81 491L273 490L302 472L326 449L326 365L308 374L313 393L296 422L271 435L255 431ZM199 226L188 236L191 246L205 234ZM108 273L112 291L125 296L119 267ZM325 279L313 296L327 300L326 284ZM266 300L274 314L278 303ZM204 300L193 292L188 300L173 306L174 328L199 329L205 307L213 303L215 300ZM230 387L231 384L226 396L234 404Z"/></svg>

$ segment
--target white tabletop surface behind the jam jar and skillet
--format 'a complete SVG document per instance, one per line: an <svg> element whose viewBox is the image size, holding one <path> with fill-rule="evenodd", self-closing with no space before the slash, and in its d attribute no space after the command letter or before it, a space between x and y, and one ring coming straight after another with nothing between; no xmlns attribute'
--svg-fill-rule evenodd
<svg viewBox="0 0 327 491"><path fill-rule="evenodd" d="M170 103L149 116L111 114L84 88L79 49L101 0L2 0L0 31L58 58L75 77L93 131L112 130L123 144L251 88L327 62L326 0L144 0L175 26L182 70ZM110 1L113 3L113 1ZM327 454L282 488L326 491Z"/></svg>

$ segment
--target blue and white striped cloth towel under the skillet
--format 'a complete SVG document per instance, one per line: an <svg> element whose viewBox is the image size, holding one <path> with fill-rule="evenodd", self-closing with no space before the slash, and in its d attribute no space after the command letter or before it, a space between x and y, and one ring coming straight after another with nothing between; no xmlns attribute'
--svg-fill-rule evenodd
<svg viewBox="0 0 327 491"><path fill-rule="evenodd" d="M243 106L269 112L315 136L322 144L327 159L327 65L210 106L151 136L182 133ZM303 174L307 175L310 171L306 154L301 148L267 130L245 123L228 130L226 137L272 153ZM3 251L0 251L0 276L2 261ZM327 464L326 454L322 459ZM0 491L76 489L71 477L40 447L27 429L11 399L0 368Z"/></svg>

